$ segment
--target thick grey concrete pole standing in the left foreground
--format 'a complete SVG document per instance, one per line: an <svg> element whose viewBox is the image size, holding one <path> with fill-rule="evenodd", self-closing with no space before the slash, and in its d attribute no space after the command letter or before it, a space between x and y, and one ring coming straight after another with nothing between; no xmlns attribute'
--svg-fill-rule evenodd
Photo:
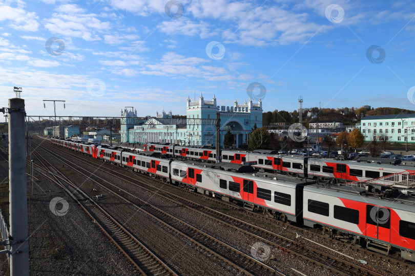
<svg viewBox="0 0 415 276"><path fill-rule="evenodd" d="M9 99L10 275L29 275L25 100Z"/></svg>

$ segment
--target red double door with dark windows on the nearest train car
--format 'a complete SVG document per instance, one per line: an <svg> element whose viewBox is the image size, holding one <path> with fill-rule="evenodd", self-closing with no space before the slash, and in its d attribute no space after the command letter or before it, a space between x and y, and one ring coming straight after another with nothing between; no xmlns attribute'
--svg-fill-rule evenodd
<svg viewBox="0 0 415 276"><path fill-rule="evenodd" d="M366 205L366 236L390 242L390 210Z"/></svg>

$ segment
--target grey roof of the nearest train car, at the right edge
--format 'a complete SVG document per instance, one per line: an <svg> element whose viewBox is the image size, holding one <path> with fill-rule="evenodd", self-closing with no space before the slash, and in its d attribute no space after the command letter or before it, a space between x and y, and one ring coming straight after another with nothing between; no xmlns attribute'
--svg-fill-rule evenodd
<svg viewBox="0 0 415 276"><path fill-rule="evenodd" d="M388 208L400 209L403 211L414 212L415 197L407 196L404 194L398 194L396 196L390 196L387 198L380 198L380 195L360 193L365 192L365 188L352 187L347 185L325 185L322 183L309 185L304 187L304 191L315 192L319 194L325 194L335 197L341 197L350 200L359 200L369 204L380 205Z"/></svg>

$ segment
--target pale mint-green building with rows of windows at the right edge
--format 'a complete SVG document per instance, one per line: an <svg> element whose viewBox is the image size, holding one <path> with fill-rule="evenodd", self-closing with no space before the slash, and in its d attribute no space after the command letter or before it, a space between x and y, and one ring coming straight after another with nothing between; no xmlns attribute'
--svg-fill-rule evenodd
<svg viewBox="0 0 415 276"><path fill-rule="evenodd" d="M388 142L415 143L415 113L363 117L360 132L365 142L383 138Z"/></svg>

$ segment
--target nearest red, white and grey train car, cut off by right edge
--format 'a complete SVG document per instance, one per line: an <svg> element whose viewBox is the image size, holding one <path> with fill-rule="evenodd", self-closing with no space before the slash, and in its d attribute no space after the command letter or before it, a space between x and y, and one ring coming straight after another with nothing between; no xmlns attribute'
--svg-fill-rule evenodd
<svg viewBox="0 0 415 276"><path fill-rule="evenodd" d="M400 195L397 201L361 196L363 188L310 185L304 187L304 225L322 225L326 235L354 240L367 248L415 261L415 200Z"/></svg>

